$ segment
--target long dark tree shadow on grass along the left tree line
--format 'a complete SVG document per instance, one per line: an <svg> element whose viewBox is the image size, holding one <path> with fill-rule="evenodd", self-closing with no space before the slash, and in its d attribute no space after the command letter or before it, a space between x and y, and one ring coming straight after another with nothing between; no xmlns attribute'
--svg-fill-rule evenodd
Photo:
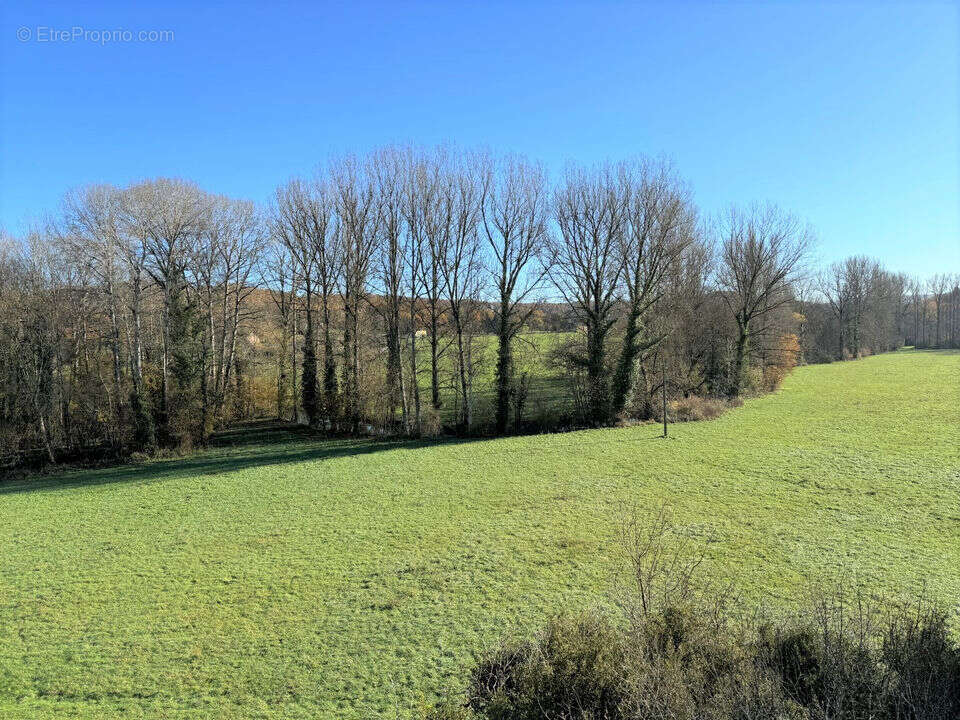
<svg viewBox="0 0 960 720"><path fill-rule="evenodd" d="M96 470L34 475L0 483L0 495L92 487L112 483L152 483L177 478L218 475L252 467L332 460L384 450L457 445L488 438L384 440L327 438L295 425L254 422L229 428L211 438L210 446L194 455L168 460L126 463Z"/></svg>

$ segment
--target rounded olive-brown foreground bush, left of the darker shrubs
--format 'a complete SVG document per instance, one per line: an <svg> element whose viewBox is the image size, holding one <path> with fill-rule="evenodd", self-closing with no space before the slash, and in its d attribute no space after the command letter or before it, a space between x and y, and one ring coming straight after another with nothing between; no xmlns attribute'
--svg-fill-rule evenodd
<svg viewBox="0 0 960 720"><path fill-rule="evenodd" d="M803 717L733 635L676 608L636 634L597 614L552 621L474 670L466 703L428 717L646 720ZM458 714L459 713L459 714Z"/></svg>

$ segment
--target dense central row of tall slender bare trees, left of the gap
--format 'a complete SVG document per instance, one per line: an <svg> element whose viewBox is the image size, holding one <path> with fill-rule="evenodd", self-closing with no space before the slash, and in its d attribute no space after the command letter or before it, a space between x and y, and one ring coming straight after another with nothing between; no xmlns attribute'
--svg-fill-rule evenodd
<svg viewBox="0 0 960 720"><path fill-rule="evenodd" d="M549 200L534 163L442 149L388 148L279 188L267 284L278 307L303 300L299 394L307 422L356 432L369 419L364 348L373 344L383 351L378 389L387 425L422 432L425 408L442 405L448 356L456 422L471 428L474 341L490 314L499 343L497 426L505 431L512 345L550 265ZM373 343L364 337L371 333Z"/></svg>

